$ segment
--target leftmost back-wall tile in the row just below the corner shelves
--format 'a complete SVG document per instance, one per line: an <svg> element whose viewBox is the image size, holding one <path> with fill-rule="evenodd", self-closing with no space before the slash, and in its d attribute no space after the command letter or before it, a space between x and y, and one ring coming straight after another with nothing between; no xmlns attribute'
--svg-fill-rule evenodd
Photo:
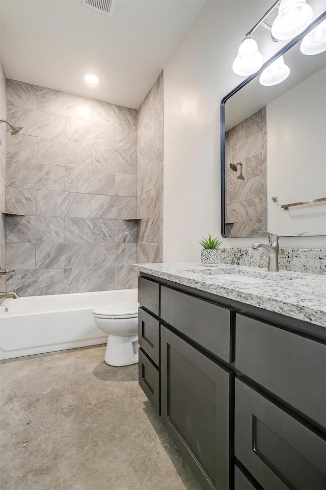
<svg viewBox="0 0 326 490"><path fill-rule="evenodd" d="M7 216L6 242L64 241L64 218L43 216Z"/></svg>

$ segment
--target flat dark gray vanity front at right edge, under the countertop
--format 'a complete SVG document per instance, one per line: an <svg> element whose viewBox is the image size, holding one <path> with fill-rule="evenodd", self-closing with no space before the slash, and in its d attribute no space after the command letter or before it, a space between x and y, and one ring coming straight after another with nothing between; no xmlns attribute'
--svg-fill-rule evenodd
<svg viewBox="0 0 326 490"><path fill-rule="evenodd" d="M236 316L235 365L244 375L326 426L326 346Z"/></svg>

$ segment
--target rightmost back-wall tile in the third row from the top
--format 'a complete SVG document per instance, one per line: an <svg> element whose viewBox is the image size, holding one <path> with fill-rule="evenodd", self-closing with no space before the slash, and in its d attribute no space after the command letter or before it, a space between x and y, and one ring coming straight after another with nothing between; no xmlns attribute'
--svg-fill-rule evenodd
<svg viewBox="0 0 326 490"><path fill-rule="evenodd" d="M137 174L137 154L92 146L92 168L120 174Z"/></svg>

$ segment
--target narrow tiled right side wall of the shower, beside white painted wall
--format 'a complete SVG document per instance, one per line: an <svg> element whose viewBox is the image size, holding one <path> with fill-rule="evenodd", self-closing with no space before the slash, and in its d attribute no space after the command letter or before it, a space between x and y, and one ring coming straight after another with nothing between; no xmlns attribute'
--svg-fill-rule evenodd
<svg viewBox="0 0 326 490"><path fill-rule="evenodd" d="M163 72L138 109L137 261L162 261Z"/></svg>

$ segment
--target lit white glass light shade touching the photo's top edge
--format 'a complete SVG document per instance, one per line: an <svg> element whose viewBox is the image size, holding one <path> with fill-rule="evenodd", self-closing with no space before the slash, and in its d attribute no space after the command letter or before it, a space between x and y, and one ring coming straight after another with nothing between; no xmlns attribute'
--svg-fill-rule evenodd
<svg viewBox="0 0 326 490"><path fill-rule="evenodd" d="M292 39L309 26L312 16L306 0L281 0L279 13L271 24L271 35L281 40Z"/></svg>

